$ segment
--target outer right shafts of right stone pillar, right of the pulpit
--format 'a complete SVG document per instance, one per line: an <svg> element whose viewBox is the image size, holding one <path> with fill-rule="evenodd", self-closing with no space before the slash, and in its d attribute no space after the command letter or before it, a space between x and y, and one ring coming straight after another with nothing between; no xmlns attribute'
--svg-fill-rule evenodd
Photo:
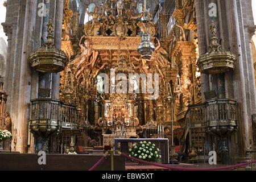
<svg viewBox="0 0 256 182"><path fill-rule="evenodd" d="M243 1L247 3L247 1ZM251 58L249 57L250 50L247 49L246 42L248 37L246 35L246 24L244 24L244 17L247 14L246 10L241 4L241 1L226 1L226 7L229 11L226 12L228 19L228 32L229 34L229 43L230 50L238 55L237 65L234 71L233 79L234 81L234 97L238 101L238 133L237 139L233 143L237 143L237 146L232 146L234 150L237 150L240 158L246 156L245 151L247 148L251 147L253 143L252 131L251 131L251 115L255 111L255 86L251 90L251 80L254 80L254 77L251 77L249 67L253 67L251 63ZM246 7L246 9L251 9L251 7Z"/></svg>

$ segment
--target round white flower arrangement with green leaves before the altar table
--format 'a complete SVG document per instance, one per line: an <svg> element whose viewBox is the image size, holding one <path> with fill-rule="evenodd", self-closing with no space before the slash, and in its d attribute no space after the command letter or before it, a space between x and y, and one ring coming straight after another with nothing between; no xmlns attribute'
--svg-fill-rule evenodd
<svg viewBox="0 0 256 182"><path fill-rule="evenodd" d="M156 148L155 144L151 142L140 142L139 144L133 144L133 147L129 150L130 155L137 159L146 160L148 162L157 162L162 156L159 154L159 148Z"/></svg>

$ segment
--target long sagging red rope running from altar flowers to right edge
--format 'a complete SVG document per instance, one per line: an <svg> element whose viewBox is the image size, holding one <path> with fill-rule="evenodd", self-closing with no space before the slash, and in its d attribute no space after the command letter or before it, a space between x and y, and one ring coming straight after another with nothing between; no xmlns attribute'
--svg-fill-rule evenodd
<svg viewBox="0 0 256 182"><path fill-rule="evenodd" d="M173 167L173 166L168 166L168 165L158 164L158 163L150 163L150 162L147 162L147 161L144 161L144 160L141 160L141 159L130 157L130 156L128 156L126 154L123 154L119 151L117 151L117 153L119 155L124 156L127 159L135 160L137 162L152 165L152 166L168 168L168 169L172 169L172 170L175 170L175 171L220 171L220 170L225 170L225 169L234 169L234 168L237 168L237 167L245 167L245 166L249 166L250 164L256 163L256 160L253 160L251 162L236 164L236 165L233 165L233 166L224 166L224 167L215 167L215 168L184 168L184 167Z"/></svg>

